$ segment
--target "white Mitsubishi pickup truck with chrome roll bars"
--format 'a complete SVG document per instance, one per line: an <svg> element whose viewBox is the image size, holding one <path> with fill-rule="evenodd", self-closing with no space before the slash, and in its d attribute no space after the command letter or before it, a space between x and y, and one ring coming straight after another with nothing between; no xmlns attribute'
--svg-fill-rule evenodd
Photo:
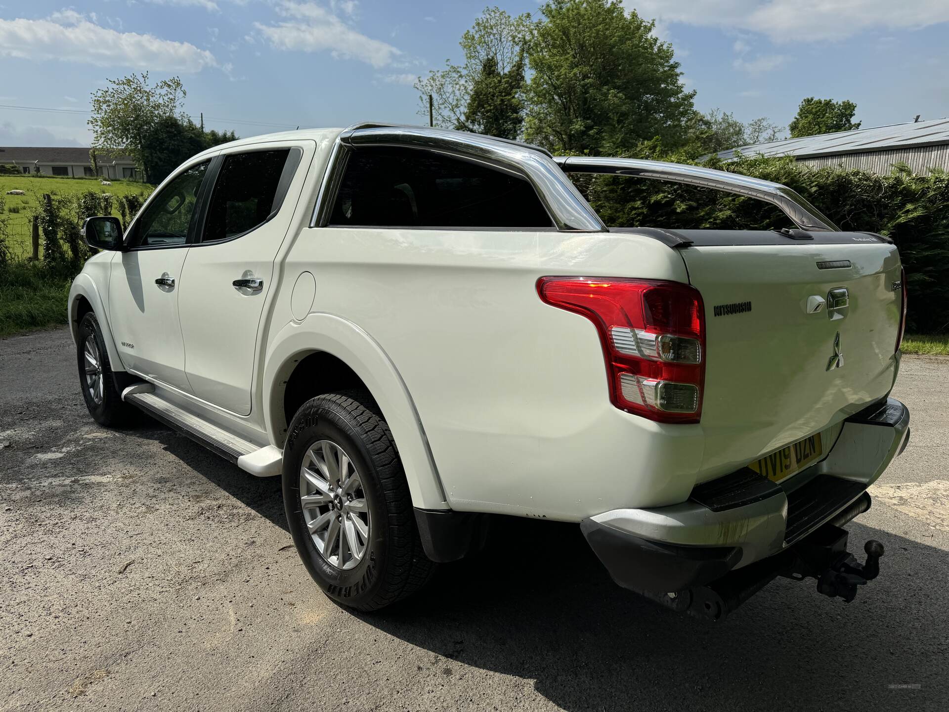
<svg viewBox="0 0 949 712"><path fill-rule="evenodd" d="M575 173L754 197L789 227L610 229ZM883 547L860 564L841 527L909 435L900 255L784 186L358 124L217 146L124 234L84 235L93 418L139 408L281 476L345 606L419 589L497 515L576 522L618 584L711 618L778 575L848 601L877 574Z"/></svg>

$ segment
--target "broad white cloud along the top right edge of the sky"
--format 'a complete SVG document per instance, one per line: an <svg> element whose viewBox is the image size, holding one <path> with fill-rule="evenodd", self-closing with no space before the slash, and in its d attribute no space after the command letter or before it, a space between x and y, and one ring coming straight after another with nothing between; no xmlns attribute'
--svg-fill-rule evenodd
<svg viewBox="0 0 949 712"><path fill-rule="evenodd" d="M869 29L949 22L946 0L625 0L642 17L768 35L776 43L823 42Z"/></svg>

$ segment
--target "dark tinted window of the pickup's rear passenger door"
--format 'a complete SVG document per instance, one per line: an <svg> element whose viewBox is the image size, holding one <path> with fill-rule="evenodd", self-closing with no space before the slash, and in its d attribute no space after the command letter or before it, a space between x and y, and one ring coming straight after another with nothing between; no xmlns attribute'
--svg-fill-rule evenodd
<svg viewBox="0 0 949 712"><path fill-rule="evenodd" d="M290 153L252 151L224 157L214 181L202 242L226 240L263 224L277 205L277 186Z"/></svg>

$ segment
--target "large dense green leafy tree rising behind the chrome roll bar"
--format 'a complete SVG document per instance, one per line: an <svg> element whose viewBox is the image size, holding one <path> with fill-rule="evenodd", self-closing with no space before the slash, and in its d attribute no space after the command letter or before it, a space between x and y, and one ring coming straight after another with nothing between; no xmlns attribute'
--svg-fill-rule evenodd
<svg viewBox="0 0 949 712"><path fill-rule="evenodd" d="M679 145L694 114L672 46L619 0L549 0L528 49L529 141L561 153Z"/></svg>

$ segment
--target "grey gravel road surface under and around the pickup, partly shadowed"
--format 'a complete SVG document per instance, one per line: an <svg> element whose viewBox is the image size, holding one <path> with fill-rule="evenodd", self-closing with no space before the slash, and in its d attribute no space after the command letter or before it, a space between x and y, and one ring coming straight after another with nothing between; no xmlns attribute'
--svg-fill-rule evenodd
<svg viewBox="0 0 949 712"><path fill-rule="evenodd" d="M576 526L518 520L354 615L300 564L277 478L97 425L65 329L2 340L0 709L947 709L949 360L905 358L894 395L913 436L850 526L886 548L852 604L781 579L680 618Z"/></svg>

